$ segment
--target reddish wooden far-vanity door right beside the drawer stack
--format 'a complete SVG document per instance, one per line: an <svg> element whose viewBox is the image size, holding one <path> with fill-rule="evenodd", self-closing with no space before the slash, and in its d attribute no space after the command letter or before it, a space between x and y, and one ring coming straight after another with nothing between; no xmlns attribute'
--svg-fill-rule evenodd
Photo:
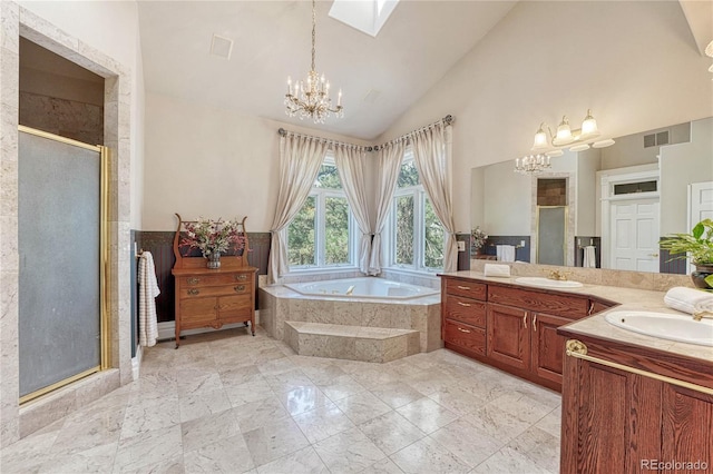
<svg viewBox="0 0 713 474"><path fill-rule="evenodd" d="M530 315L509 306L488 304L488 357L529 369Z"/></svg>

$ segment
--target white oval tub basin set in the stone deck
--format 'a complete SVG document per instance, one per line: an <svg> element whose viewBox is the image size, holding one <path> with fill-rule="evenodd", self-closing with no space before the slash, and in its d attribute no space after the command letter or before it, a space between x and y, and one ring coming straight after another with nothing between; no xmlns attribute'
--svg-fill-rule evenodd
<svg viewBox="0 0 713 474"><path fill-rule="evenodd" d="M440 293L439 289L409 285L407 283L390 282L388 279L375 277L293 283L286 284L285 286L290 289L294 289L301 295L336 296L345 298L412 299Z"/></svg>

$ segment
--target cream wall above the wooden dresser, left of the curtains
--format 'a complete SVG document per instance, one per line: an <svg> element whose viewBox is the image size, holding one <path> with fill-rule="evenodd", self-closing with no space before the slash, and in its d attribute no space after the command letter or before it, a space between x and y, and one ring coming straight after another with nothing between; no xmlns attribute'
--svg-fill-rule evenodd
<svg viewBox="0 0 713 474"><path fill-rule="evenodd" d="M178 213L184 219L247 216L248 231L268 231L277 200L281 127L367 145L149 92L143 229L173 230Z"/></svg>

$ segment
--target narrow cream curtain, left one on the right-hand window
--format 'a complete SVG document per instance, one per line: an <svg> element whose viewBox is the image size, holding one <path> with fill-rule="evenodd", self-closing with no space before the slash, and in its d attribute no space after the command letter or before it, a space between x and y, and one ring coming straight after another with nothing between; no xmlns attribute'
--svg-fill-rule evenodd
<svg viewBox="0 0 713 474"><path fill-rule="evenodd" d="M377 157L377 224L374 226L374 239L371 244L371 258L369 260L369 275L381 273L382 254L381 233L387 224L391 199L397 188L397 179L403 160L404 140L395 140L384 145Z"/></svg>

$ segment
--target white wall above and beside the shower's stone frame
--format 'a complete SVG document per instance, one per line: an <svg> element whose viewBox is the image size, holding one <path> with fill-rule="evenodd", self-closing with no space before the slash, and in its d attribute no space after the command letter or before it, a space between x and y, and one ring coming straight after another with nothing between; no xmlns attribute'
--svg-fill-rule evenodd
<svg viewBox="0 0 713 474"><path fill-rule="evenodd" d="M144 71L138 11L133 0L27 1L18 3L118 61L131 77L131 228L141 223L141 169L144 168Z"/></svg>

